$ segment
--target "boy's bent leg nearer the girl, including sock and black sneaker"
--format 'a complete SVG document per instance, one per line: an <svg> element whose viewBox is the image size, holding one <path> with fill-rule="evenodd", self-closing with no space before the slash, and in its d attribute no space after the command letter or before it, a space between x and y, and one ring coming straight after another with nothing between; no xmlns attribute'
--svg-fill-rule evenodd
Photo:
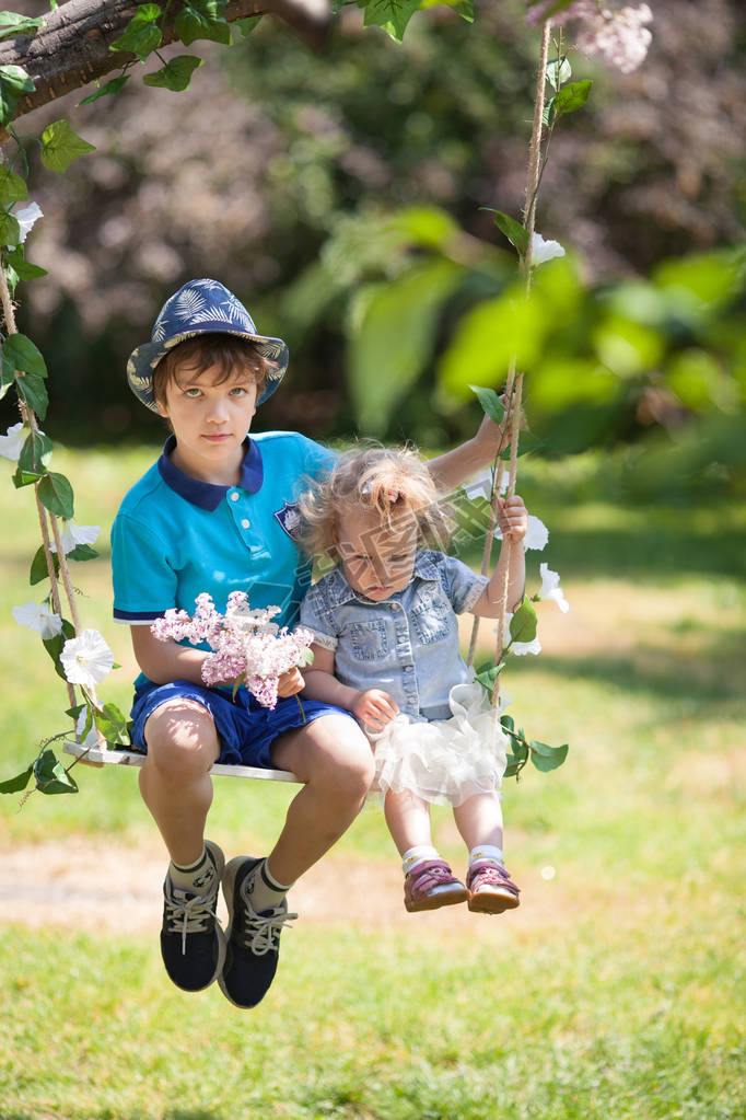
<svg viewBox="0 0 746 1120"><path fill-rule="evenodd" d="M274 979L283 924L295 916L287 914L285 889L347 831L375 773L367 738L342 715L320 716L280 736L272 763L292 771L303 788L291 802L267 859L233 859L224 877L230 924L220 988L244 1008L255 1007Z"/></svg>

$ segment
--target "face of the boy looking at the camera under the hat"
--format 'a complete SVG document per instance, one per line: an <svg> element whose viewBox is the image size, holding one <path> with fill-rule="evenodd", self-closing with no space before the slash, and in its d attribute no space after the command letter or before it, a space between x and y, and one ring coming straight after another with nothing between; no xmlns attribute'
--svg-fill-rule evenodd
<svg viewBox="0 0 746 1120"><path fill-rule="evenodd" d="M256 412L256 384L242 368L219 379L215 366L202 373L180 367L158 411L173 428L177 466L205 482L224 483L226 473L243 461L242 445Z"/></svg>

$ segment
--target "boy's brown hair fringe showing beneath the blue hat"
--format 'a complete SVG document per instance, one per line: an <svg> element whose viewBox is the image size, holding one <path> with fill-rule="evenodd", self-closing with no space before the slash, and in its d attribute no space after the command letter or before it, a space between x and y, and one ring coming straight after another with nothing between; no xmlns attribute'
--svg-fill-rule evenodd
<svg viewBox="0 0 746 1120"><path fill-rule="evenodd" d="M187 338L161 358L153 373L153 395L166 403L166 391L170 384L179 384L179 375L187 370L200 374L211 366L219 371L216 384L228 381L237 371L247 374L256 385L256 395L264 392L270 363L258 353L254 343L236 335L204 334Z"/></svg>

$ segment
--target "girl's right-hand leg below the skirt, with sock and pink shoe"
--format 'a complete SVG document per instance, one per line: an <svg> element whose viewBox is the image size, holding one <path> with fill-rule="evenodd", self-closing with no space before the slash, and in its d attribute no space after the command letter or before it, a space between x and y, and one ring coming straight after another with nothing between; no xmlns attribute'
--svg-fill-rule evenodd
<svg viewBox="0 0 746 1120"><path fill-rule="evenodd" d="M469 908L501 914L518 906L519 890L502 859L502 809L497 793L478 793L454 808L456 827L469 848Z"/></svg>

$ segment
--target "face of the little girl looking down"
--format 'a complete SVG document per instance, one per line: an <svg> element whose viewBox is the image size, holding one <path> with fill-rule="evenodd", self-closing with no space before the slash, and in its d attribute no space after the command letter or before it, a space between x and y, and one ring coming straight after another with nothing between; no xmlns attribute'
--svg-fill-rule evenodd
<svg viewBox="0 0 746 1120"><path fill-rule="evenodd" d="M342 513L334 543L344 578L374 603L402 591L412 579L417 551L417 522L412 513L381 525L376 515Z"/></svg>

